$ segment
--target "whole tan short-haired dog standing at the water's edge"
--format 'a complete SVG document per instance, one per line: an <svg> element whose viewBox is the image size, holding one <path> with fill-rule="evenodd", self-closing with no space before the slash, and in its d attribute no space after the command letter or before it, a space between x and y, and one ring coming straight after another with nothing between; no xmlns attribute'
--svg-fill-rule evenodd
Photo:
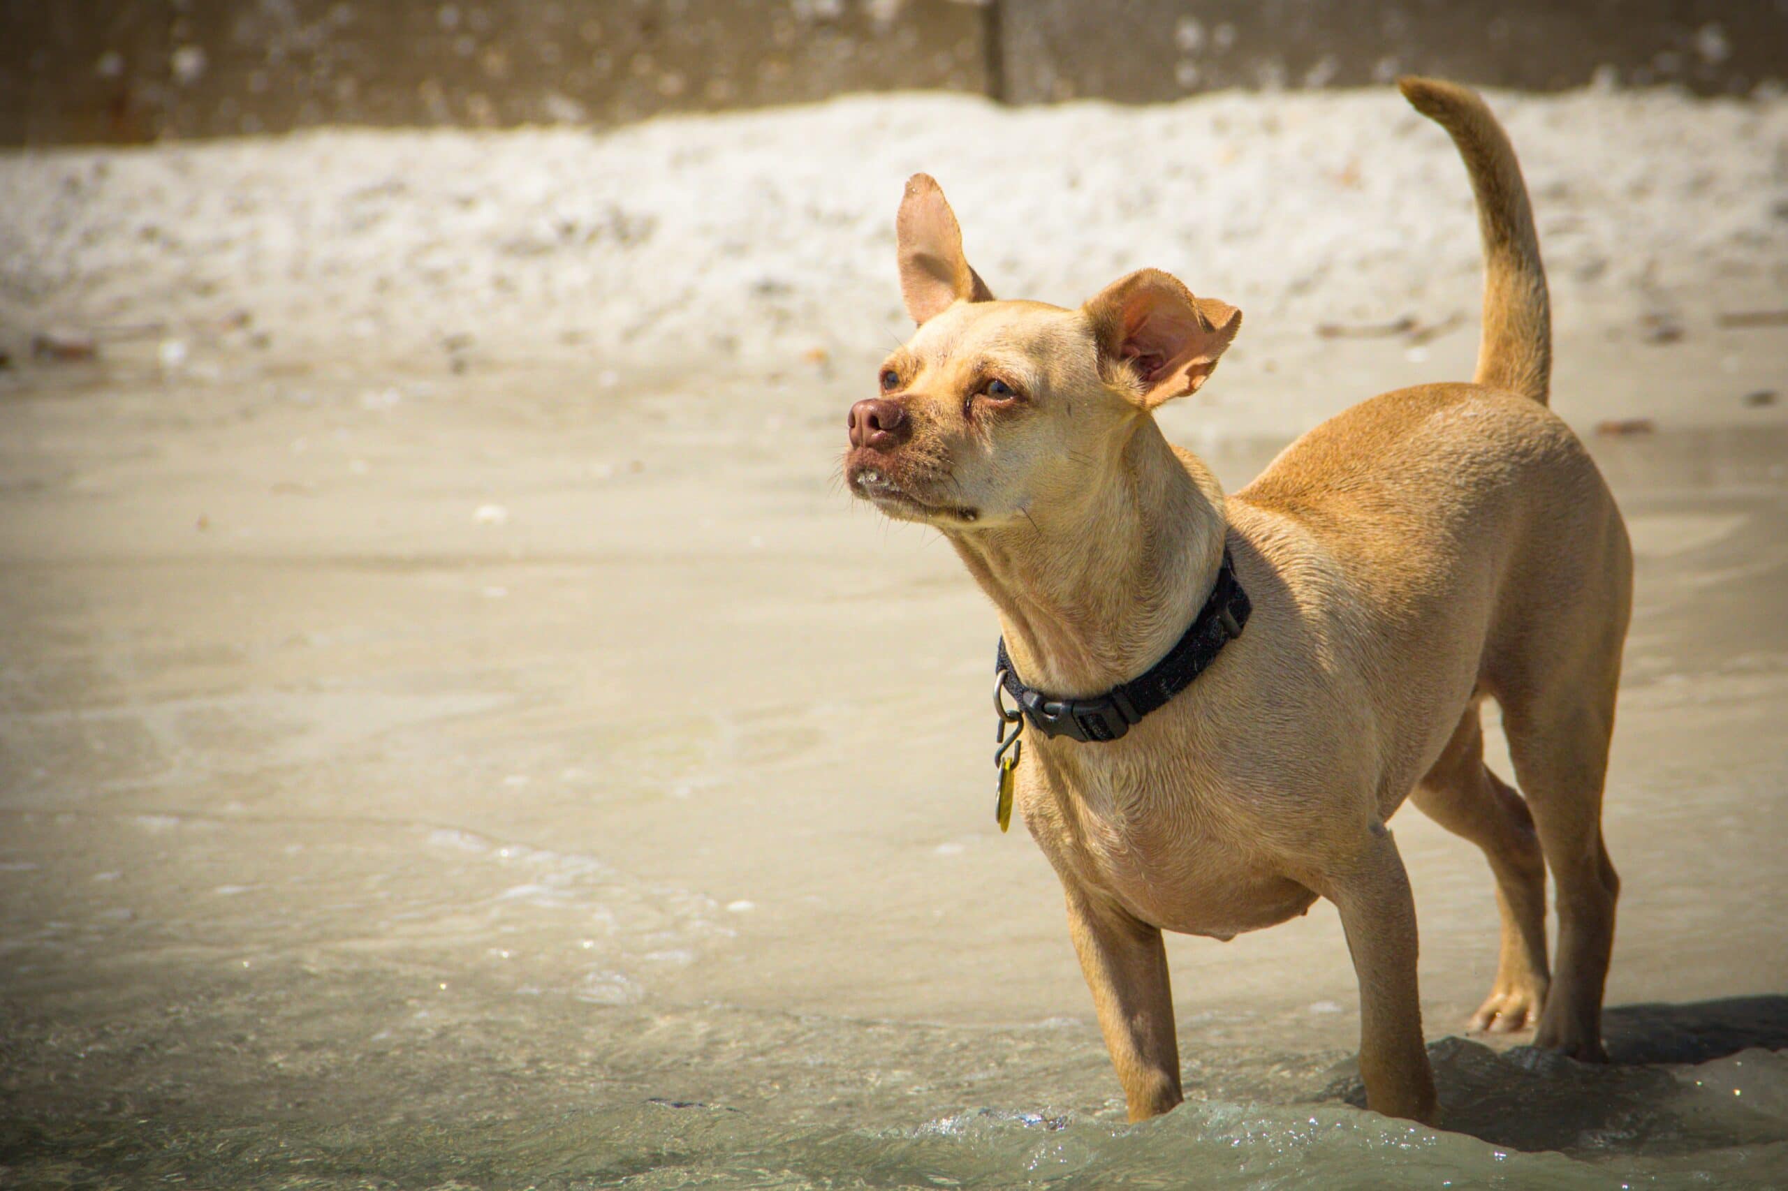
<svg viewBox="0 0 1788 1191"><path fill-rule="evenodd" d="M1472 91L1404 95L1457 143L1484 238L1472 384L1375 397L1225 497L1151 411L1196 390L1241 313L1132 274L1080 309L994 300L924 175L899 211L914 338L851 410L846 474L944 533L999 610L1023 683L1096 696L1148 671L1225 547L1253 617L1112 742L1033 731L1017 807L1067 921L1132 1119L1180 1094L1162 930L1227 939L1328 898L1361 985L1379 1112L1436 1118L1416 912L1384 821L1405 798L1484 849L1502 953L1473 1025L1604 1057L1618 880L1600 805L1631 551L1582 443L1547 410L1550 315L1527 190ZM1502 706L1520 794L1482 760ZM1548 978L1545 869L1557 882Z"/></svg>

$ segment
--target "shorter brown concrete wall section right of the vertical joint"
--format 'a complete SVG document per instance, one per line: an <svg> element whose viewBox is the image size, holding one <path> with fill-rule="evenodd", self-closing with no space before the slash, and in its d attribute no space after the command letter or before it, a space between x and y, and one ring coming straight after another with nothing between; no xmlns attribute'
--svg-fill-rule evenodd
<svg viewBox="0 0 1788 1191"><path fill-rule="evenodd" d="M1784 0L1110 0L1012 4L1007 98L1125 102L1432 73L1563 89L1598 77L1702 93L1788 79Z"/></svg>

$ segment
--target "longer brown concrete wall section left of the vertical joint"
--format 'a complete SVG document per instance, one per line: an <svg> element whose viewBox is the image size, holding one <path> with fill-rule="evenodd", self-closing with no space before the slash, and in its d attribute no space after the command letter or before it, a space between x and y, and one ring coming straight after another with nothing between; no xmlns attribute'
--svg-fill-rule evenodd
<svg viewBox="0 0 1788 1191"><path fill-rule="evenodd" d="M0 0L0 143L985 91L951 0Z"/></svg>

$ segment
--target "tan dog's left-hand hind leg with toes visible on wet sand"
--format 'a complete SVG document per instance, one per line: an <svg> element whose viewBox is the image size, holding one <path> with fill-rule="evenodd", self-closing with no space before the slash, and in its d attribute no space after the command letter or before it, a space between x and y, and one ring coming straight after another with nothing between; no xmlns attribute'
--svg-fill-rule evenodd
<svg viewBox="0 0 1788 1191"><path fill-rule="evenodd" d="M1477 703L1466 708L1411 801L1448 832L1477 844L1497 876L1502 912L1497 982L1472 1014L1472 1028L1502 1034L1538 1025L1548 980L1547 862L1527 803L1484 765Z"/></svg>

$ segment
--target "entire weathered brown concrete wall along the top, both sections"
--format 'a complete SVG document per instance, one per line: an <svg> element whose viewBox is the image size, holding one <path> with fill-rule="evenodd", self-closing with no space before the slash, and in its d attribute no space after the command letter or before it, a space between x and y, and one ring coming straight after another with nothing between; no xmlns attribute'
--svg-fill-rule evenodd
<svg viewBox="0 0 1788 1191"><path fill-rule="evenodd" d="M1010 102L1788 79L1788 0L0 0L0 143L619 123L940 88Z"/></svg>

